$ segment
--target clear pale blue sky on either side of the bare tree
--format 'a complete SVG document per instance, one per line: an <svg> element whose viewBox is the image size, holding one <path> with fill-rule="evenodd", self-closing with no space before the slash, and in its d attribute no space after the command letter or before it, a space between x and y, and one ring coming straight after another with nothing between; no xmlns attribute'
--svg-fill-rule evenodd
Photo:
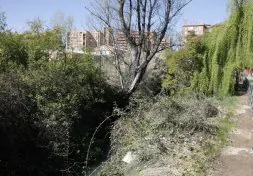
<svg viewBox="0 0 253 176"><path fill-rule="evenodd" d="M227 19L229 0L193 0L178 18L176 30L184 24L216 24ZM8 28L14 31L27 29L27 21L40 17L50 24L57 13L74 19L79 30L89 28L90 13L85 9L92 0L0 0L0 11L7 17Z"/></svg>

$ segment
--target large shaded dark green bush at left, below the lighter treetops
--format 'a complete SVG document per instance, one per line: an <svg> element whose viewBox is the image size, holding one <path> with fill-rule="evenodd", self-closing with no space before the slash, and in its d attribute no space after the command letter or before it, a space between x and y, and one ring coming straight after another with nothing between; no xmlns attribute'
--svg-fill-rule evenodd
<svg viewBox="0 0 253 176"><path fill-rule="evenodd" d="M3 150L8 153L11 152L8 147L10 150L15 148L26 157L20 162L22 158L16 153L15 162L10 162L4 155L2 162L6 168L0 168L1 175L7 175L9 170L14 175L36 172L58 175L61 174L59 170L65 174L82 173L87 141L93 128L103 121L113 106L111 88L92 58L86 55L80 60L39 62L26 69L9 67L0 78L0 131L10 132L1 141L6 144ZM13 127L9 128L9 124ZM94 139L89 158L91 164L104 158L109 142L104 139L104 133L101 129ZM11 135L17 146L8 142ZM17 140L18 136L22 139ZM33 151L26 149L28 145ZM34 156L38 158L26 155L27 151L37 152ZM37 163L37 159L41 160L41 165L30 163Z"/></svg>

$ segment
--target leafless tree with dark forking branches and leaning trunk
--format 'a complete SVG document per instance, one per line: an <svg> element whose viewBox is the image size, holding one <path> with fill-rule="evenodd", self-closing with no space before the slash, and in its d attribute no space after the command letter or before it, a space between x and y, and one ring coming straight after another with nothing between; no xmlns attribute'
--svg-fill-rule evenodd
<svg viewBox="0 0 253 176"><path fill-rule="evenodd" d="M121 87L129 96L139 86L151 60L164 49L161 43L167 30L191 1L101 0L97 1L95 8L88 8L111 31L120 31L124 34L131 58L130 63L128 62L130 68L128 84L121 82ZM115 38L113 41L116 41ZM115 63L122 77L123 71L118 56L115 57Z"/></svg>

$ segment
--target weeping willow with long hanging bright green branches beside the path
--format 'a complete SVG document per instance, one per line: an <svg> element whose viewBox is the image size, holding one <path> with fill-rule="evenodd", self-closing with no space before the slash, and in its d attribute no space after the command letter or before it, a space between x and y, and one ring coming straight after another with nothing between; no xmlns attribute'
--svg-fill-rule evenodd
<svg viewBox="0 0 253 176"><path fill-rule="evenodd" d="M203 69L192 84L196 91L232 94L238 71L253 67L253 0L232 0L230 9L229 20L204 38Z"/></svg>

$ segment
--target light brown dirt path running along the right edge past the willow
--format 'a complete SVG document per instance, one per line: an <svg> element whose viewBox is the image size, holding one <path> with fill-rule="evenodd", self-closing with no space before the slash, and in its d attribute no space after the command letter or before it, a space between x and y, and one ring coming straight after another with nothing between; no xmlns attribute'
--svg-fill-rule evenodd
<svg viewBox="0 0 253 176"><path fill-rule="evenodd" d="M246 95L240 96L236 127L209 176L253 176L253 115Z"/></svg>

